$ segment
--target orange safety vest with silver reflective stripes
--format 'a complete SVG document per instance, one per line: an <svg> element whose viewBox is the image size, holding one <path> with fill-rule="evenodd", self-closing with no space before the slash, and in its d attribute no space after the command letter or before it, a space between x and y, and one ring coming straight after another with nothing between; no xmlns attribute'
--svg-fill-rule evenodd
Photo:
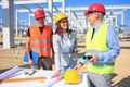
<svg viewBox="0 0 130 87"><path fill-rule="evenodd" d="M39 57L50 57L52 27L44 25L42 34L37 25L30 26L29 30L30 30L30 50L38 52Z"/></svg>

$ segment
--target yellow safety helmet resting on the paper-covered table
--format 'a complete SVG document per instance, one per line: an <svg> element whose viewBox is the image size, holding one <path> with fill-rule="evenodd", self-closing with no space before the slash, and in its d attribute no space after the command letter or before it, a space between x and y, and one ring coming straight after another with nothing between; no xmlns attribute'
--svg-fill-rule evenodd
<svg viewBox="0 0 130 87"><path fill-rule="evenodd" d="M69 69L65 72L64 82L68 84L78 84L80 83L80 74L77 70Z"/></svg>

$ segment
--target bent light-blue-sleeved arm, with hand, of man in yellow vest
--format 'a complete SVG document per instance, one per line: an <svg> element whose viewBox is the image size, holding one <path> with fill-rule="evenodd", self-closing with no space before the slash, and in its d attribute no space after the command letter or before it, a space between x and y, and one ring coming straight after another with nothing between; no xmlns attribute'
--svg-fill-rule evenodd
<svg viewBox="0 0 130 87"><path fill-rule="evenodd" d="M108 51L101 52L95 51L92 52L92 59L90 59L90 62L96 63L98 61L110 61L114 60L120 52L120 47L118 44L117 35L114 28L109 27L107 32L107 45L109 47ZM84 63L86 60L81 60L81 63Z"/></svg>

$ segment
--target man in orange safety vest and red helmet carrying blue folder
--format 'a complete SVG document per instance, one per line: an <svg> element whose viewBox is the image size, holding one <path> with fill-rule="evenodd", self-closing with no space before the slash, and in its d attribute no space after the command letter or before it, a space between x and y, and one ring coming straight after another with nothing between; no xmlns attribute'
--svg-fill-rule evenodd
<svg viewBox="0 0 130 87"><path fill-rule="evenodd" d="M39 54L37 67L43 67L43 70L52 70L52 27L44 25L46 13L42 9L37 9L35 11L35 20L37 21L37 24L29 26L27 33L28 37L26 40L26 51L28 55L28 63L30 65L34 65L34 60L30 51L35 51Z"/></svg>

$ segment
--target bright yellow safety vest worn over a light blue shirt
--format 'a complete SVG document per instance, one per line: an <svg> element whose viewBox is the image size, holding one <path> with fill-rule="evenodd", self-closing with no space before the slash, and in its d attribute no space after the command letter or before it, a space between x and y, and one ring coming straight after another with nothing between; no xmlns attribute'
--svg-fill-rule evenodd
<svg viewBox="0 0 130 87"><path fill-rule="evenodd" d="M95 33L93 39L91 40L92 36L92 28L90 28L87 33L87 50L98 50L98 51L107 51L109 48L106 44L107 38L107 29L108 24L103 24L98 32ZM87 69L93 73L98 74L110 74L114 70L115 60L112 61L99 61L98 63L88 63Z"/></svg>

